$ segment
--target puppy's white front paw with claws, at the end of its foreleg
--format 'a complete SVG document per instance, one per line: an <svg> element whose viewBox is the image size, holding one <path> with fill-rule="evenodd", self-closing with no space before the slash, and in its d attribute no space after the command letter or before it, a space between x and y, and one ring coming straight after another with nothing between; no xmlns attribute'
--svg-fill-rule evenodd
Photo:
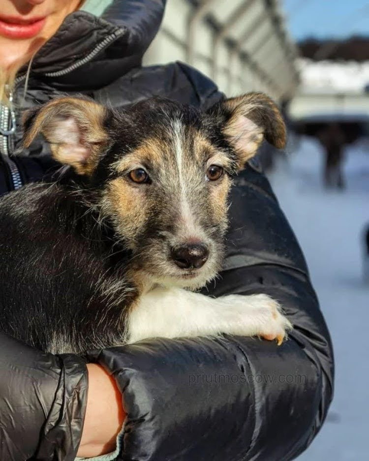
<svg viewBox="0 0 369 461"><path fill-rule="evenodd" d="M230 295L223 300L226 301L230 326L227 333L277 340L280 345L292 329L280 305L268 295Z"/></svg>

